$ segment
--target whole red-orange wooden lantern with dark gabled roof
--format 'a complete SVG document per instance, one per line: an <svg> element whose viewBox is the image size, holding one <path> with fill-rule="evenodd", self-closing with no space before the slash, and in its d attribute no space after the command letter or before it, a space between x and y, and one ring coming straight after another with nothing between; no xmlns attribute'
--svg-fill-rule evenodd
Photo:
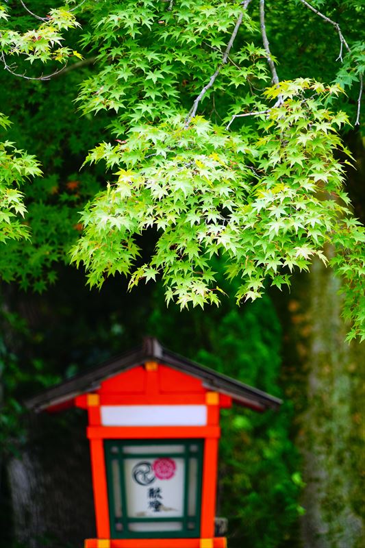
<svg viewBox="0 0 365 548"><path fill-rule="evenodd" d="M225 548L214 536L219 411L281 401L164 349L142 349L27 401L88 411L97 538L86 548Z"/></svg>

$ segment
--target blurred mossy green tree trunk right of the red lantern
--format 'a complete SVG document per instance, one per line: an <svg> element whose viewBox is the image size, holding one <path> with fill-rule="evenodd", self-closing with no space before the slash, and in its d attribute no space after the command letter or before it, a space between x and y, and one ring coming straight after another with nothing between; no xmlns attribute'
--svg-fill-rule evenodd
<svg viewBox="0 0 365 548"><path fill-rule="evenodd" d="M344 342L340 282L315 262L288 301L288 397L303 458L303 548L363 548L365 343ZM290 349L291 347L291 349Z"/></svg>

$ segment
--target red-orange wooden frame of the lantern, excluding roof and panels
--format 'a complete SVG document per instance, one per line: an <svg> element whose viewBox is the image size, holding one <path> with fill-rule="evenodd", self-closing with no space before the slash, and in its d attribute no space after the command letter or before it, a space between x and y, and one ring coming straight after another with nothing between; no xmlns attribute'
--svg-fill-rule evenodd
<svg viewBox="0 0 365 548"><path fill-rule="evenodd" d="M169 371L168 371L169 370ZM178 386L175 393L164 393L160 388L162 377L168 375L168 387ZM143 384L144 390L134 393L136 384ZM123 386L123 392L110 392L115 386ZM188 403L187 403L188 402ZM105 426L102 424L101 408L104 406L205 406L206 425L201 426ZM95 540L108 540L110 548L138 548L149 546L154 540L162 542L165 535L158 539L111 538L108 482L105 466L104 440L203 440L203 477L201 488L201 516L199 538L184 538L186 546L200 548L201 540L211 540L212 548L221 547L222 538L214 540L214 517L216 512L216 475L218 461L218 441L221 435L219 410L231 406L231 398L212 392L203 387L197 379L174 371L158 362L147 362L134 371L120 373L114 379L101 383L97 393L86 393L75 399L78 407L88 410L88 431L94 488L95 517L97 539L86 540L86 548L95 548ZM155 535L151 535L155 536ZM136 544L136 541L139 544ZM181 538L168 538L168 548L181 546ZM97 545L99 547L99 545ZM159 545L162 548L162 545ZM185 546L185 545L184 545Z"/></svg>

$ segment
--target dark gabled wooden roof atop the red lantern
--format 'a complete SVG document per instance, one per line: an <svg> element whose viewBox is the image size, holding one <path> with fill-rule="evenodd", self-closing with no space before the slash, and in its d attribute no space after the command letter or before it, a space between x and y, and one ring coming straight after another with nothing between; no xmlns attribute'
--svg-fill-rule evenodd
<svg viewBox="0 0 365 548"><path fill-rule="evenodd" d="M25 401L25 406L36 411L55 407L67 408L73 405L73 401L78 395L98 390L101 382L105 379L148 361L156 361L200 379L207 390L225 394L242 406L265 411L277 409L282 403L281 399L266 394L262 390L179 356L179 354L164 348L156 338L145 337L141 347L115 356L84 373L79 373L60 384L43 390L42 393L28 398Z"/></svg>

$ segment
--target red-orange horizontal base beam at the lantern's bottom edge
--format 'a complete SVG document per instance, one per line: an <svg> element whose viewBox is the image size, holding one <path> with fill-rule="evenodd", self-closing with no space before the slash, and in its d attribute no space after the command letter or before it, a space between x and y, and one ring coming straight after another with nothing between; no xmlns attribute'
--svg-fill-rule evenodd
<svg viewBox="0 0 365 548"><path fill-rule="evenodd" d="M227 548L227 538L87 538L84 548Z"/></svg>

